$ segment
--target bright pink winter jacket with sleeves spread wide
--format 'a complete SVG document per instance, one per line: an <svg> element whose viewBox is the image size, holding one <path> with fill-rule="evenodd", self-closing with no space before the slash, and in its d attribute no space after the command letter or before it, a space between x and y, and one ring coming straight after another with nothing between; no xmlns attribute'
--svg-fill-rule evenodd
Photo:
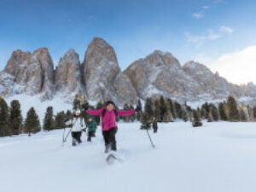
<svg viewBox="0 0 256 192"><path fill-rule="evenodd" d="M86 112L90 115L93 116L101 116L102 117L102 112L104 108L98 109L98 110L91 110L88 109ZM121 111L121 110L116 110L119 116L127 116L135 113L134 109L127 110L127 111ZM106 109L106 113L104 114L104 117L102 119L102 131L108 131L111 128L116 127L116 122L115 122L115 113L114 111L108 111Z"/></svg>

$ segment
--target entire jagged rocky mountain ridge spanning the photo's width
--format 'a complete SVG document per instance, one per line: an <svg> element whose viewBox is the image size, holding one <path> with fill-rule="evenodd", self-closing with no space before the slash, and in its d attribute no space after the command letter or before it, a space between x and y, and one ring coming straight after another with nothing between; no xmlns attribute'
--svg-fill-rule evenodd
<svg viewBox="0 0 256 192"><path fill-rule="evenodd" d="M22 93L40 94L42 100L56 94L70 100L79 93L94 102L111 99L133 104L137 98L148 96L166 96L178 102L224 99L230 95L254 100L256 86L231 84L195 61L182 66L171 53L160 50L132 62L122 72L113 47L102 38L94 38L83 62L69 49L55 70L48 49L33 53L15 50L0 72L0 95Z"/></svg>

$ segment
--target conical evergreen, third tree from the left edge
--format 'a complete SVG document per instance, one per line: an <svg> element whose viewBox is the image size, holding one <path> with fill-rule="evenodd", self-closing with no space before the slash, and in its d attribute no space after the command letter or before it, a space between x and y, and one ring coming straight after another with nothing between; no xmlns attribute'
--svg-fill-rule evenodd
<svg viewBox="0 0 256 192"><path fill-rule="evenodd" d="M41 130L38 114L34 108L30 108L26 113L26 120L24 125L24 132L31 136L31 133L37 133Z"/></svg>

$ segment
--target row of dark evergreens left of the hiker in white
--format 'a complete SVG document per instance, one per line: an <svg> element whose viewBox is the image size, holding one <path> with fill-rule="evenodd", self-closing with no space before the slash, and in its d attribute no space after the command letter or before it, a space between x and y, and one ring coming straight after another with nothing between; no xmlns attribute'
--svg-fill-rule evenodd
<svg viewBox="0 0 256 192"><path fill-rule="evenodd" d="M67 110L67 113L61 111L54 115L53 108L48 107L44 116L43 127L41 127L38 114L34 108L30 108L26 113L26 119L23 119L20 102L13 100L9 107L3 97L0 96L0 137L14 136L21 133L27 133L28 136L31 136L32 133L37 133L42 128L44 131L61 129L66 126L67 120L71 117L70 110Z"/></svg>

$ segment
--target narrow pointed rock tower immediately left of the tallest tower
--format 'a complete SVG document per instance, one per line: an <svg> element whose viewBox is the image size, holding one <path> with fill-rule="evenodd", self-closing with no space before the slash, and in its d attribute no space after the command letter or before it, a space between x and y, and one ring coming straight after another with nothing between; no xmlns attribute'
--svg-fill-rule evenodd
<svg viewBox="0 0 256 192"><path fill-rule="evenodd" d="M55 71L55 90L62 94L82 93L85 95L84 84L82 82L82 71L79 55L69 49L61 57L59 65Z"/></svg>

